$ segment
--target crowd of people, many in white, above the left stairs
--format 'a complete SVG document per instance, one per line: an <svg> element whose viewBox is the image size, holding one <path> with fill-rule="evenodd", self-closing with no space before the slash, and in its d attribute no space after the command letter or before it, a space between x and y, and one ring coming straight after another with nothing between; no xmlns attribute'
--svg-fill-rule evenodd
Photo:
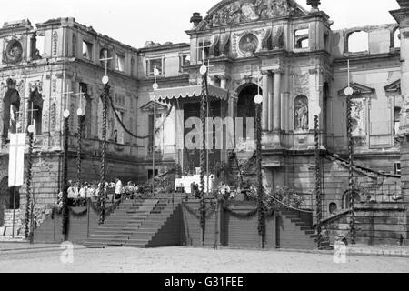
<svg viewBox="0 0 409 291"><path fill-rule="evenodd" d="M100 188L100 182L73 183L68 181L68 205L81 207L86 206L89 199L97 201L101 193ZM123 186L122 181L116 178L115 182L105 182L105 191L102 193L105 193L108 201L114 202L122 198L135 199L142 194L141 190L142 187L133 182L128 182L127 185ZM57 205L63 207L63 192L60 192L57 196Z"/></svg>

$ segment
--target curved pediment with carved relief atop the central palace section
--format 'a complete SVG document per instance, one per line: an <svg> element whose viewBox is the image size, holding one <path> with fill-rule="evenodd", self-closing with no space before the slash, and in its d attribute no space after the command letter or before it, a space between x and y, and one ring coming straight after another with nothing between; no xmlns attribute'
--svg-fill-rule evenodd
<svg viewBox="0 0 409 291"><path fill-rule="evenodd" d="M224 0L208 12L197 29L306 14L294 0Z"/></svg>

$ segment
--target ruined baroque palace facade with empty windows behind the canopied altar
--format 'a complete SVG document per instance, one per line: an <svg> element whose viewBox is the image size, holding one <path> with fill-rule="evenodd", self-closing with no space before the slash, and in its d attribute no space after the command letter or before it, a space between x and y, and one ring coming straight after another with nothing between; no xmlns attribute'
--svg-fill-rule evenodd
<svg viewBox="0 0 409 291"><path fill-rule="evenodd" d="M322 145L329 153L347 159L344 88L348 86L349 61L354 87L355 175L362 178L360 183L370 176L375 185L379 179L392 179L391 183L400 187L396 137L404 100L399 25L333 30L330 17L318 5L312 6L307 11L293 0L224 0L204 17L193 15L193 27L186 31L189 44L148 42L141 49L98 34L74 18L35 26L27 20L5 23L0 29L3 208L13 206L10 197L14 189L7 186L8 133L25 132L29 122L35 124L36 207L54 205L62 183L65 109L71 112L69 178L76 179L76 110L82 107L82 178L98 180L102 145L99 96L105 75L101 59L106 57L112 58L107 62L111 96L125 126L140 136L150 135L154 122L161 126L155 135L159 173L175 164L190 171L198 166L197 153L180 150L180 142L185 137L183 121L199 115L200 92L195 87L202 84L199 68L205 56L211 86L227 96L211 102L212 116L254 117L253 99L260 92L264 96L266 181L271 188L289 186L299 193L314 190L314 113L318 108ZM356 44L362 47L355 48ZM155 68L160 74L156 93L152 88ZM175 94L184 87L194 94ZM155 118L153 95L166 101L155 103ZM107 119L108 179L119 176L124 182L145 182L153 174L153 138L127 135L111 109ZM238 144L235 149L240 153ZM212 159L227 161L228 151L214 151ZM342 158L331 155L323 156L323 166L324 213L328 216L345 207L347 167ZM368 171L372 176L366 175ZM18 190L21 198L16 208L24 209L25 186Z"/></svg>

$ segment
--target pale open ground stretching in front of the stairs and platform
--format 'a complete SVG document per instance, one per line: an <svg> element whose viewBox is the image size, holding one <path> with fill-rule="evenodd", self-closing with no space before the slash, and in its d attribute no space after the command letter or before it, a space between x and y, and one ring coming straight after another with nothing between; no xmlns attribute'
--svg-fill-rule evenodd
<svg viewBox="0 0 409 291"><path fill-rule="evenodd" d="M409 271L409 259L384 256L347 256L335 264L331 254L258 250L165 247L156 249L74 249L74 263L61 262L62 250L37 249L0 252L0 272L53 273L274 273ZM201 264L198 264L201 262Z"/></svg>

